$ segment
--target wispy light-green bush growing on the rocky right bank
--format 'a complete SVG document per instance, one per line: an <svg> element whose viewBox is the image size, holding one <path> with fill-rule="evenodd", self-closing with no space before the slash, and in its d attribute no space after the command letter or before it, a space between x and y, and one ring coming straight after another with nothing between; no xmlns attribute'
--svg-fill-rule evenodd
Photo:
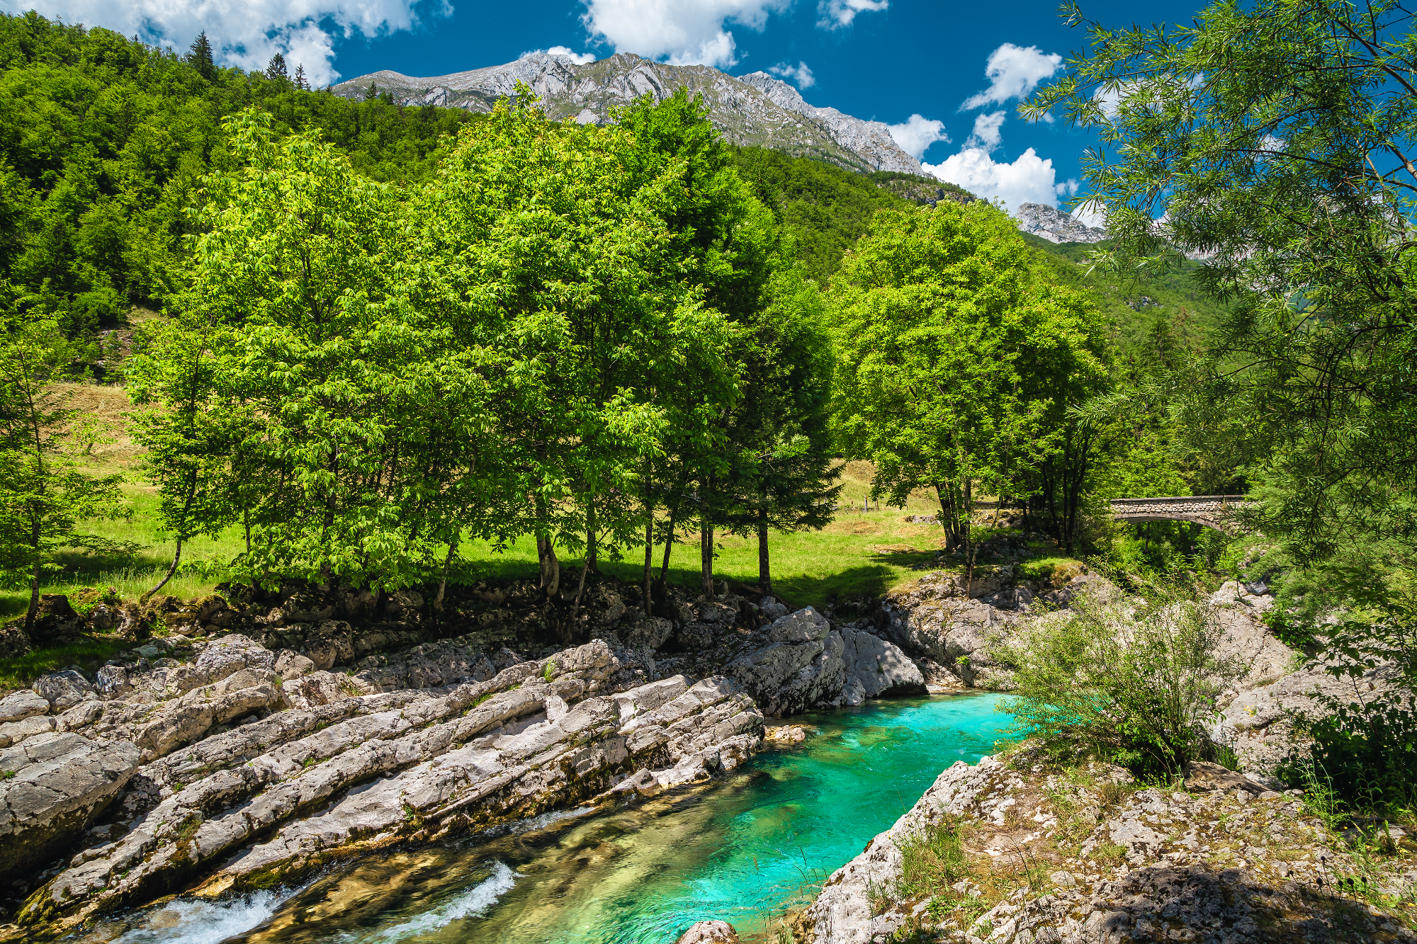
<svg viewBox="0 0 1417 944"><path fill-rule="evenodd" d="M1013 669L1002 704L1017 733L1050 754L1098 754L1139 778L1175 778L1212 760L1216 697L1243 673L1220 658L1214 611L1183 585L1145 585L1144 598L1084 594L1071 612L1033 621L993 652Z"/></svg>

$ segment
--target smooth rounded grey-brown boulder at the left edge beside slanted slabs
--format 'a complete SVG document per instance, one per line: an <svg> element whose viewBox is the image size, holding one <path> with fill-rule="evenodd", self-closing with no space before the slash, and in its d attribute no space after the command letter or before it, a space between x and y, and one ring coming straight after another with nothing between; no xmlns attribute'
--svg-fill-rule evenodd
<svg viewBox="0 0 1417 944"><path fill-rule="evenodd" d="M45 719L50 720L50 719ZM72 843L137 767L137 747L43 733L0 751L0 880Z"/></svg>

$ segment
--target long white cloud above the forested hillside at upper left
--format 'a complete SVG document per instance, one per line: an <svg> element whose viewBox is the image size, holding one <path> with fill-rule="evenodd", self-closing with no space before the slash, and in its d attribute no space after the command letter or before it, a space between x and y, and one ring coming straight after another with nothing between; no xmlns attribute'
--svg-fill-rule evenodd
<svg viewBox="0 0 1417 944"><path fill-rule="evenodd" d="M0 9L38 10L101 26L186 52L207 31L218 65L264 69L276 52L290 71L305 65L313 85L339 78L334 37L401 33L452 13L446 0L0 0Z"/></svg>

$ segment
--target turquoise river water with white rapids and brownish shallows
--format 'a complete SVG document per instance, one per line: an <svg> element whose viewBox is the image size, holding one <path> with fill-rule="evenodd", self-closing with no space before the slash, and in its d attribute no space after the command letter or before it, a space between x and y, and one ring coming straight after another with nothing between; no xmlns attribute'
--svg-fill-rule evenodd
<svg viewBox="0 0 1417 944"><path fill-rule="evenodd" d="M755 935L801 907L956 760L992 753L998 696L870 702L710 787L551 814L371 858L300 889L176 900L98 937L122 944L672 944L723 918Z"/></svg>

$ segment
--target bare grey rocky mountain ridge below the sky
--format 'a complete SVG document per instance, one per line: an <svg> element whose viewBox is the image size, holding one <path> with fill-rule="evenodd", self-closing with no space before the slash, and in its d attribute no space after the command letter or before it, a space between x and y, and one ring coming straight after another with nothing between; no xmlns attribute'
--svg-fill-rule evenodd
<svg viewBox="0 0 1417 944"><path fill-rule="evenodd" d="M813 108L786 82L765 72L733 78L706 65L666 65L629 52L577 65L570 57L534 52L516 62L469 72L414 78L373 72L334 86L336 95L364 98L370 84L401 105L442 105L489 112L516 94L521 81L541 99L548 118L602 123L609 109L640 95L662 101L679 88L701 94L708 118L734 145L761 145L811 154L856 170L922 174L920 162L891 139L880 122Z"/></svg>

